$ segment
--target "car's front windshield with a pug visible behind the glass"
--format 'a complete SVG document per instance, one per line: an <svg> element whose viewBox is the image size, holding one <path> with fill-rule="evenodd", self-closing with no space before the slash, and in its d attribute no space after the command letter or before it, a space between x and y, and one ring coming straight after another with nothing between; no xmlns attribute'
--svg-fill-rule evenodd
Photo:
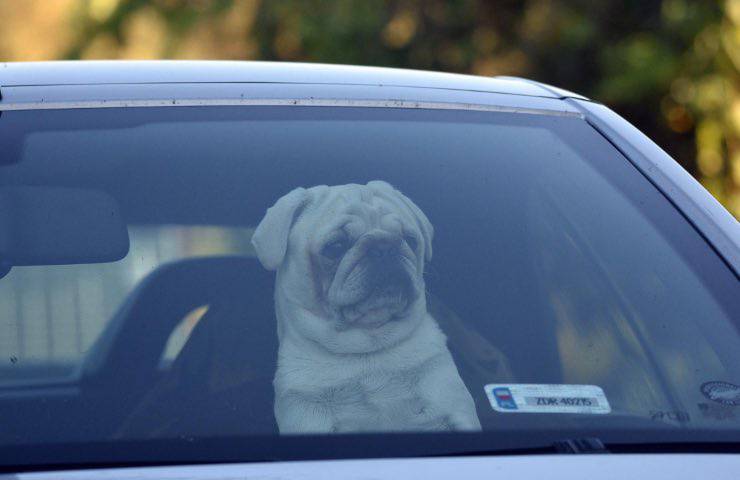
<svg viewBox="0 0 740 480"><path fill-rule="evenodd" d="M0 451L740 432L738 279L578 116L6 111L0 143Z"/></svg>

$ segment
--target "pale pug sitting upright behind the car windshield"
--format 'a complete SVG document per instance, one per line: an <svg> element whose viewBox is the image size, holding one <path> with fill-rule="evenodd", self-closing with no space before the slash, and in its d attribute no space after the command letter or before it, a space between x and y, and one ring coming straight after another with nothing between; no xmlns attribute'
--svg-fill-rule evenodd
<svg viewBox="0 0 740 480"><path fill-rule="evenodd" d="M297 188L252 244L276 270L282 434L480 430L427 312L432 225L386 182Z"/></svg>

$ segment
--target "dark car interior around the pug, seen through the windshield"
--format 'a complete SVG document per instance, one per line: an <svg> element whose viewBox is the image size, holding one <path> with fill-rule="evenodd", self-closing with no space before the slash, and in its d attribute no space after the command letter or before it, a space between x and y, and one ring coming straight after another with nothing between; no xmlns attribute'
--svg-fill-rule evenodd
<svg viewBox="0 0 740 480"><path fill-rule="evenodd" d="M359 113L334 112L329 130L292 125L278 135L253 124L306 123L315 113L130 109L122 118L116 110L46 112L41 119L34 112L3 113L0 141L10 152L4 158L12 160L0 165L0 208L15 218L4 231L16 233L8 234L12 248L3 247L9 269L0 288L21 288L14 275L24 270L67 268L55 264L135 266L133 242L141 229L205 225L248 233L295 186L382 177L435 224L426 273L429 309L448 337L484 429L594 422L681 427L668 417L656 422L650 412L695 415L700 380L726 375L738 364L732 362L736 326L726 321L738 303L732 273L717 274L722 262L701 237L676 223L673 207L581 119L551 125L550 119L476 114L463 118L466 129L492 122L500 136L486 143L482 135L491 134L482 130L481 137L455 143L432 141L427 131L451 128L450 119L425 123L416 113L393 114L408 126L405 136L381 129L382 112L362 112L371 117L357 123L364 130L342 123L357 121ZM219 128L205 129L208 122ZM538 141L506 141L511 130L505 126L525 129L531 122L533 131L580 136L557 144L549 133ZM344 140L333 140L336 129L345 129ZM325 145L315 140L322 134L329 139ZM379 138L390 146L373 150ZM486 166L491 151L495 169ZM562 163L550 161L555 154ZM579 155L593 170L579 163ZM460 162L465 168L457 168ZM576 173L561 178L564 168ZM596 198L596 207L584 196ZM101 219L101 212L113 210L119 213ZM29 240L39 238L47 241ZM657 274L635 268L666 245L685 262L662 259ZM195 249L147 265L122 300L108 302L108 318L96 319L100 333L71 374L28 380L17 373L24 358L3 347L11 360L0 365L0 444L277 434L274 274L249 247ZM699 279L715 293L696 286ZM682 288L703 296L694 306L673 305L672 292ZM8 295L18 298L17 291ZM79 301L85 300L83 292ZM666 327L658 315L673 319L675 338L661 335ZM717 320L707 320L711 316ZM694 322L700 317L714 322L711 328ZM192 328L163 363L186 321ZM670 355L676 345L694 370L681 370L684 364ZM613 414L497 414L483 391L496 382L602 385Z"/></svg>

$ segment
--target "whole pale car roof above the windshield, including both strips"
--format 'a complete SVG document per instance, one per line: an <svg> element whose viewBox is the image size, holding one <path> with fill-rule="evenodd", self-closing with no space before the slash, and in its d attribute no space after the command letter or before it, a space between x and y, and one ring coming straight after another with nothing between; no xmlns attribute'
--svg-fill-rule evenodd
<svg viewBox="0 0 740 480"><path fill-rule="evenodd" d="M452 103L578 114L520 79L265 62L48 62L0 68L0 111L42 108L254 104L258 99ZM92 102L92 103L91 103ZM137 103L138 102L138 103ZM193 103L196 102L196 103ZM391 103L383 106L393 106Z"/></svg>

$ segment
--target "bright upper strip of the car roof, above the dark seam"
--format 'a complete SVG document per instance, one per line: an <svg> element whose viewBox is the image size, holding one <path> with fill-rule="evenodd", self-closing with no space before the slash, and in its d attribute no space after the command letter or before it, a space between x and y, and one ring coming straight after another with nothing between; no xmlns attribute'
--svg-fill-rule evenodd
<svg viewBox="0 0 740 480"><path fill-rule="evenodd" d="M482 77L348 65L177 60L0 63L0 89L29 86L179 83L366 85L545 98L584 98L566 90L515 77Z"/></svg>

